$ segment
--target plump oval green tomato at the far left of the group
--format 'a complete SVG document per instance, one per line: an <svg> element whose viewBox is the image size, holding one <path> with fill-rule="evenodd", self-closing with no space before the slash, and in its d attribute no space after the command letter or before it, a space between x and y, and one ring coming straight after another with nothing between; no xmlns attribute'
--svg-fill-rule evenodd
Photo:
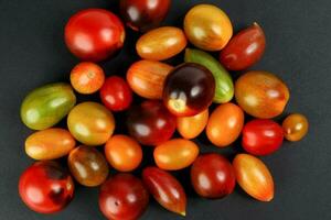
<svg viewBox="0 0 331 220"><path fill-rule="evenodd" d="M76 96L68 84L50 84L32 90L21 106L23 123L44 130L60 122L75 106Z"/></svg>

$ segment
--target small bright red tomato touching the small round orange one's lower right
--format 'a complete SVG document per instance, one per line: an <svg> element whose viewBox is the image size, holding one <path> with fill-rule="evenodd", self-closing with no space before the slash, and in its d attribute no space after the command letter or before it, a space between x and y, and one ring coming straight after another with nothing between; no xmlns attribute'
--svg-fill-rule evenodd
<svg viewBox="0 0 331 220"><path fill-rule="evenodd" d="M103 103L111 111L122 111L132 102L132 91L128 82L118 76L110 76L100 89Z"/></svg>

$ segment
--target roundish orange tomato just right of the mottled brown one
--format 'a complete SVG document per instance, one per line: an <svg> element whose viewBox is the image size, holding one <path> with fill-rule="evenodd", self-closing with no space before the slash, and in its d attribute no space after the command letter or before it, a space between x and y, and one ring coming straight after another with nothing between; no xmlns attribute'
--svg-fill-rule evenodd
<svg viewBox="0 0 331 220"><path fill-rule="evenodd" d="M139 143L127 135L111 136L105 146L105 155L109 164L120 172L131 172L139 166L142 151Z"/></svg>

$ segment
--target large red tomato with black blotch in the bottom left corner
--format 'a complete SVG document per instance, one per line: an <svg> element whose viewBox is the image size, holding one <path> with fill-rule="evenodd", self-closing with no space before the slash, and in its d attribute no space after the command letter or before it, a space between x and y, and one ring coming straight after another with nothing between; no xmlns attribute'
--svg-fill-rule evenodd
<svg viewBox="0 0 331 220"><path fill-rule="evenodd" d="M61 211L72 200L74 183L68 173L52 161L36 162L20 177L21 199L33 211Z"/></svg>

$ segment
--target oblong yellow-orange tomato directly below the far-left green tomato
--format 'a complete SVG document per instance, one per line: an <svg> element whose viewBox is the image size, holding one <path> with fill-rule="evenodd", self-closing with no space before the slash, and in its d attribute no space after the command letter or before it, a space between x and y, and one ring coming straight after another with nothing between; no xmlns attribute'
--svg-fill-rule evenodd
<svg viewBox="0 0 331 220"><path fill-rule="evenodd" d="M31 134L25 141L25 152L34 160L54 160L65 156L76 141L64 129L46 129Z"/></svg>

